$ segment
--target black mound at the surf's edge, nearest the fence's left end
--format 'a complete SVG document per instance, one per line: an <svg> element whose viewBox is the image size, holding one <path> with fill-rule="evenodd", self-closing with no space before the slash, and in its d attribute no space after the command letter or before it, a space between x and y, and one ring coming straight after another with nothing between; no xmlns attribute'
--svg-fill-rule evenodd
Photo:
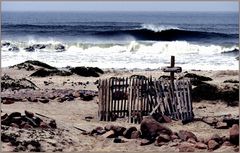
<svg viewBox="0 0 240 153"><path fill-rule="evenodd" d="M104 73L101 69L97 67L75 67L70 68L70 71L84 77L99 77L99 74Z"/></svg>

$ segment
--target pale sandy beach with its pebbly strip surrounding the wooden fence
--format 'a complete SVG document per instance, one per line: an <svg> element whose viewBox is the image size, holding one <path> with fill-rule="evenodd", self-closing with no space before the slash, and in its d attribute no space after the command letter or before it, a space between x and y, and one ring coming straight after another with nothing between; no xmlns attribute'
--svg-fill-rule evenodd
<svg viewBox="0 0 240 153"><path fill-rule="evenodd" d="M34 65L33 65L34 66ZM181 121L174 121L170 123L161 123L162 125L170 128L173 132L178 133L181 130L187 130L195 134L197 141L191 142L183 141L180 138L170 141L164 145L158 146L155 143L149 145L142 145L142 139L126 139L121 138L121 143L115 143L114 138L106 138L104 135L89 135L97 127L105 127L106 125L113 124L115 126L122 126L125 128L136 127L140 131L140 124L130 124L126 120L117 119L113 122L99 121L98 119L98 88L97 80L110 77L130 77L131 75L144 75L159 78L162 75L169 75L160 69L156 70L127 70L127 69L104 69L104 74L99 77L83 77L77 74L70 76L46 76L46 77L33 77L30 75L34 73L39 67L34 66L35 70L27 71L25 68L3 68L3 75L8 75L10 78L18 80L26 78L35 84L38 88L32 89L18 89L8 90L3 89L2 85L2 101L1 101L1 118L4 114L11 114L13 112L20 112L24 114L25 110L32 112L35 116L40 117L42 120L55 120L57 128L20 128L14 126L2 125L2 135L11 135L15 133L17 136L15 141L38 141L40 144L40 151L182 151L185 148L193 148L192 151L209 151L209 147L199 149L196 143L202 142L208 144L209 139L214 134L217 134L221 139L226 138L229 140L229 130L231 127L216 128L203 122L202 120L194 120L188 124L183 125ZM175 75L180 78L187 73L194 73L201 76L212 78L212 81L206 81L208 84L216 85L221 90L231 90L231 88L238 88L239 83L224 83L226 80L238 80L238 71L223 70L223 71L200 71L200 70L183 70L182 73ZM4 80L3 80L4 82ZM234 81L233 81L234 82ZM13 87L9 87L11 89ZM195 86L193 86L194 90ZM91 99L86 100L84 96L77 94L79 91L87 90L91 92ZM59 95L51 98L51 95L57 92ZM72 93L73 98L62 100L61 94ZM206 91L208 92L208 91ZM40 94L41 93L41 94ZM26 95L37 99L26 98ZM35 96L35 98L34 98ZM9 97L15 97L11 99ZM44 100L41 100L44 99ZM47 99L47 100L46 100ZM193 112L195 118L216 118L221 120L224 116L239 119L238 100L235 100L237 105L233 106L234 102L226 102L224 99L193 101ZM37 114L40 114L37 115ZM44 115L44 116L41 116ZM76 129L80 128L82 130ZM83 132L85 131L85 132ZM229 141L228 141L229 142ZM5 141L2 138L2 151L36 151L34 145L14 145L13 142ZM29 147L31 146L31 147ZM207 146L207 145L206 145ZM36 149L37 147L35 147ZM183 150L186 151L186 150ZM222 143L214 148L216 152L239 151L238 145L231 143Z"/></svg>

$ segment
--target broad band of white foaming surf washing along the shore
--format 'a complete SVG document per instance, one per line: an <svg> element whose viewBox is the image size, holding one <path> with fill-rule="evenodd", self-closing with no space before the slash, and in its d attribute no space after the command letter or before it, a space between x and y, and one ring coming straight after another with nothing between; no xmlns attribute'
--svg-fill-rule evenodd
<svg viewBox="0 0 240 153"><path fill-rule="evenodd" d="M62 44L66 51L56 52L54 47L26 52L28 45L34 43ZM11 42L18 46L19 42ZM169 65L171 55L176 56L176 65L183 69L238 69L235 56L221 53L234 49L237 46L224 47L219 45L200 45L186 41L139 42L131 41L126 44L84 44L62 42L21 42L19 52L8 51L2 47L2 66L10 66L25 60L39 60L57 67L69 66L97 66L100 68L150 68L156 69ZM5 50L5 51L4 51Z"/></svg>

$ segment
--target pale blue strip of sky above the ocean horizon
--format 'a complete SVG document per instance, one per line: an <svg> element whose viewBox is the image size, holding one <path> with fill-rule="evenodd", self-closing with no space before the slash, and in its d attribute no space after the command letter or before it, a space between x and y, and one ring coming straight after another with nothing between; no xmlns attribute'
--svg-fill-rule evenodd
<svg viewBox="0 0 240 153"><path fill-rule="evenodd" d="M2 2L2 11L238 11L232 2Z"/></svg>

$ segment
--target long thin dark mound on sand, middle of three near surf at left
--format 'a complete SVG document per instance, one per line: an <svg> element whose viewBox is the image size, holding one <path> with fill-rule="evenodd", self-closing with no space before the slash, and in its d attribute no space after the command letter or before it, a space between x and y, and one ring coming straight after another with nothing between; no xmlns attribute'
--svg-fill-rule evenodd
<svg viewBox="0 0 240 153"><path fill-rule="evenodd" d="M72 75L71 72L63 71L63 70L46 70L46 69L39 69L36 72L32 73L31 77L47 77L47 76L70 76Z"/></svg>

